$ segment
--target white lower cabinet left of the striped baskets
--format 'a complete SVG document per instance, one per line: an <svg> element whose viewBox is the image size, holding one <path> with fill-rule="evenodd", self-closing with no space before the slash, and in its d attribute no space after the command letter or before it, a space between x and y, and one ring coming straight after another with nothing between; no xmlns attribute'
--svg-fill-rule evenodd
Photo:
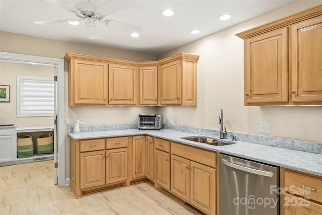
<svg viewBox="0 0 322 215"><path fill-rule="evenodd" d="M17 159L16 126L0 128L0 163Z"/></svg>

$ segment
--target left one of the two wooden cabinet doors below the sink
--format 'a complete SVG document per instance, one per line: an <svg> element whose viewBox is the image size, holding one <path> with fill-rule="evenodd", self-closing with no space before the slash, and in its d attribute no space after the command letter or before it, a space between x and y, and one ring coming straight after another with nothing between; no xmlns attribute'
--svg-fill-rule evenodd
<svg viewBox="0 0 322 215"><path fill-rule="evenodd" d="M190 201L190 161L171 155L171 192Z"/></svg>

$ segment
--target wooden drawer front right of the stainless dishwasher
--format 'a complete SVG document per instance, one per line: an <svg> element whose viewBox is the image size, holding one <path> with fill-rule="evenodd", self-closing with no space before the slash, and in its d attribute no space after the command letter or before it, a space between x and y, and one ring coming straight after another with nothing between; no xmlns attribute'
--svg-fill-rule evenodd
<svg viewBox="0 0 322 215"><path fill-rule="evenodd" d="M322 202L322 179L285 171L285 187L290 193Z"/></svg>

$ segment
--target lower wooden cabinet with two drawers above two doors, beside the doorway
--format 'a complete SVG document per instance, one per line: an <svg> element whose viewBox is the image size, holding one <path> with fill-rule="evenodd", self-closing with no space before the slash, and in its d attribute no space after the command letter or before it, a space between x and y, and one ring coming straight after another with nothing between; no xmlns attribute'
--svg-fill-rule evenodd
<svg viewBox="0 0 322 215"><path fill-rule="evenodd" d="M109 185L129 184L127 138L70 138L70 187L76 198Z"/></svg>

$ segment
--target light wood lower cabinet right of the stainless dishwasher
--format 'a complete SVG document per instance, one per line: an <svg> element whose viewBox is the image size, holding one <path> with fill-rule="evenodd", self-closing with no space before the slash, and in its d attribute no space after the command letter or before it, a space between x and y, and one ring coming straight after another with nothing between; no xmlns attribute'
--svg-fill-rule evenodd
<svg viewBox="0 0 322 215"><path fill-rule="evenodd" d="M322 215L322 177L280 169L281 215Z"/></svg>

